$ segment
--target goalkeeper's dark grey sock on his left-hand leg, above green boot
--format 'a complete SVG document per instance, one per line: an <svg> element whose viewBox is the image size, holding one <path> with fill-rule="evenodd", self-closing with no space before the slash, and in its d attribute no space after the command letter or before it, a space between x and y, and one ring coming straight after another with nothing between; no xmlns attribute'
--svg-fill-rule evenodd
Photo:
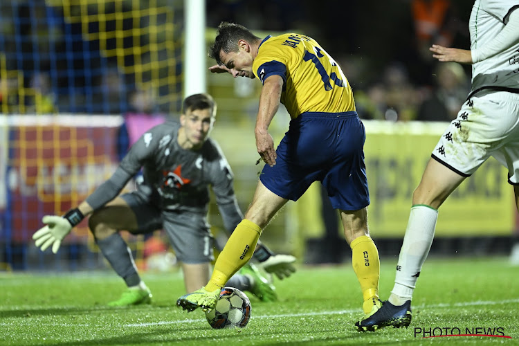
<svg viewBox="0 0 519 346"><path fill-rule="evenodd" d="M137 273L134 257L119 233L113 233L113 235L102 240L95 239L95 243L98 244L101 253L117 275L125 280L128 287L139 284L140 277Z"/></svg>

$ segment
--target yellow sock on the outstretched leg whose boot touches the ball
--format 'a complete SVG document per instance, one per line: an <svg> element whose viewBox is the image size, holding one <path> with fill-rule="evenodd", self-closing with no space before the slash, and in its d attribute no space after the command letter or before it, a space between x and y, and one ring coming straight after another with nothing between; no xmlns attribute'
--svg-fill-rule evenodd
<svg viewBox="0 0 519 346"><path fill-rule="evenodd" d="M261 234L260 226L247 219L243 219L236 226L224 250L218 256L211 280L206 284L206 291L221 289L230 277L251 259Z"/></svg>

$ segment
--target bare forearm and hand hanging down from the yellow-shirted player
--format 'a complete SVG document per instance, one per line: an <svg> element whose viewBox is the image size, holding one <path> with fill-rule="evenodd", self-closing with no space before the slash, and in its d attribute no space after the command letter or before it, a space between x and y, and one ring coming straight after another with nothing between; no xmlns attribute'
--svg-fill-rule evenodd
<svg viewBox="0 0 519 346"><path fill-rule="evenodd" d="M274 140L268 133L268 125L271 124L277 109L280 107L282 89L283 79L279 75L271 75L266 78L260 94L260 109L257 112L254 129L257 152L262 156L263 161L270 166L275 165L277 156Z"/></svg>

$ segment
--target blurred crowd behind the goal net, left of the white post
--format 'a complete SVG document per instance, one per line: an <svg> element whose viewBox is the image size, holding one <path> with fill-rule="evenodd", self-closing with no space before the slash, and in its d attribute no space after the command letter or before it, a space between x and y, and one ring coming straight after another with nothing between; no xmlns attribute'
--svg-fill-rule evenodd
<svg viewBox="0 0 519 346"><path fill-rule="evenodd" d="M1 113L179 109L183 0L0 3Z"/></svg>

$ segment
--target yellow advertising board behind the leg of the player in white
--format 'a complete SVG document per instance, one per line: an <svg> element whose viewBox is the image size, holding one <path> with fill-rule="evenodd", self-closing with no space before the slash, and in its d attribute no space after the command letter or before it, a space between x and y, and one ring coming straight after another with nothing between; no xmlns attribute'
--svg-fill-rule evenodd
<svg viewBox="0 0 519 346"><path fill-rule="evenodd" d="M370 230L374 237L401 236L406 229L412 192L448 124L364 123ZM515 208L507 169L490 158L439 208L436 234L509 235L515 227Z"/></svg>

